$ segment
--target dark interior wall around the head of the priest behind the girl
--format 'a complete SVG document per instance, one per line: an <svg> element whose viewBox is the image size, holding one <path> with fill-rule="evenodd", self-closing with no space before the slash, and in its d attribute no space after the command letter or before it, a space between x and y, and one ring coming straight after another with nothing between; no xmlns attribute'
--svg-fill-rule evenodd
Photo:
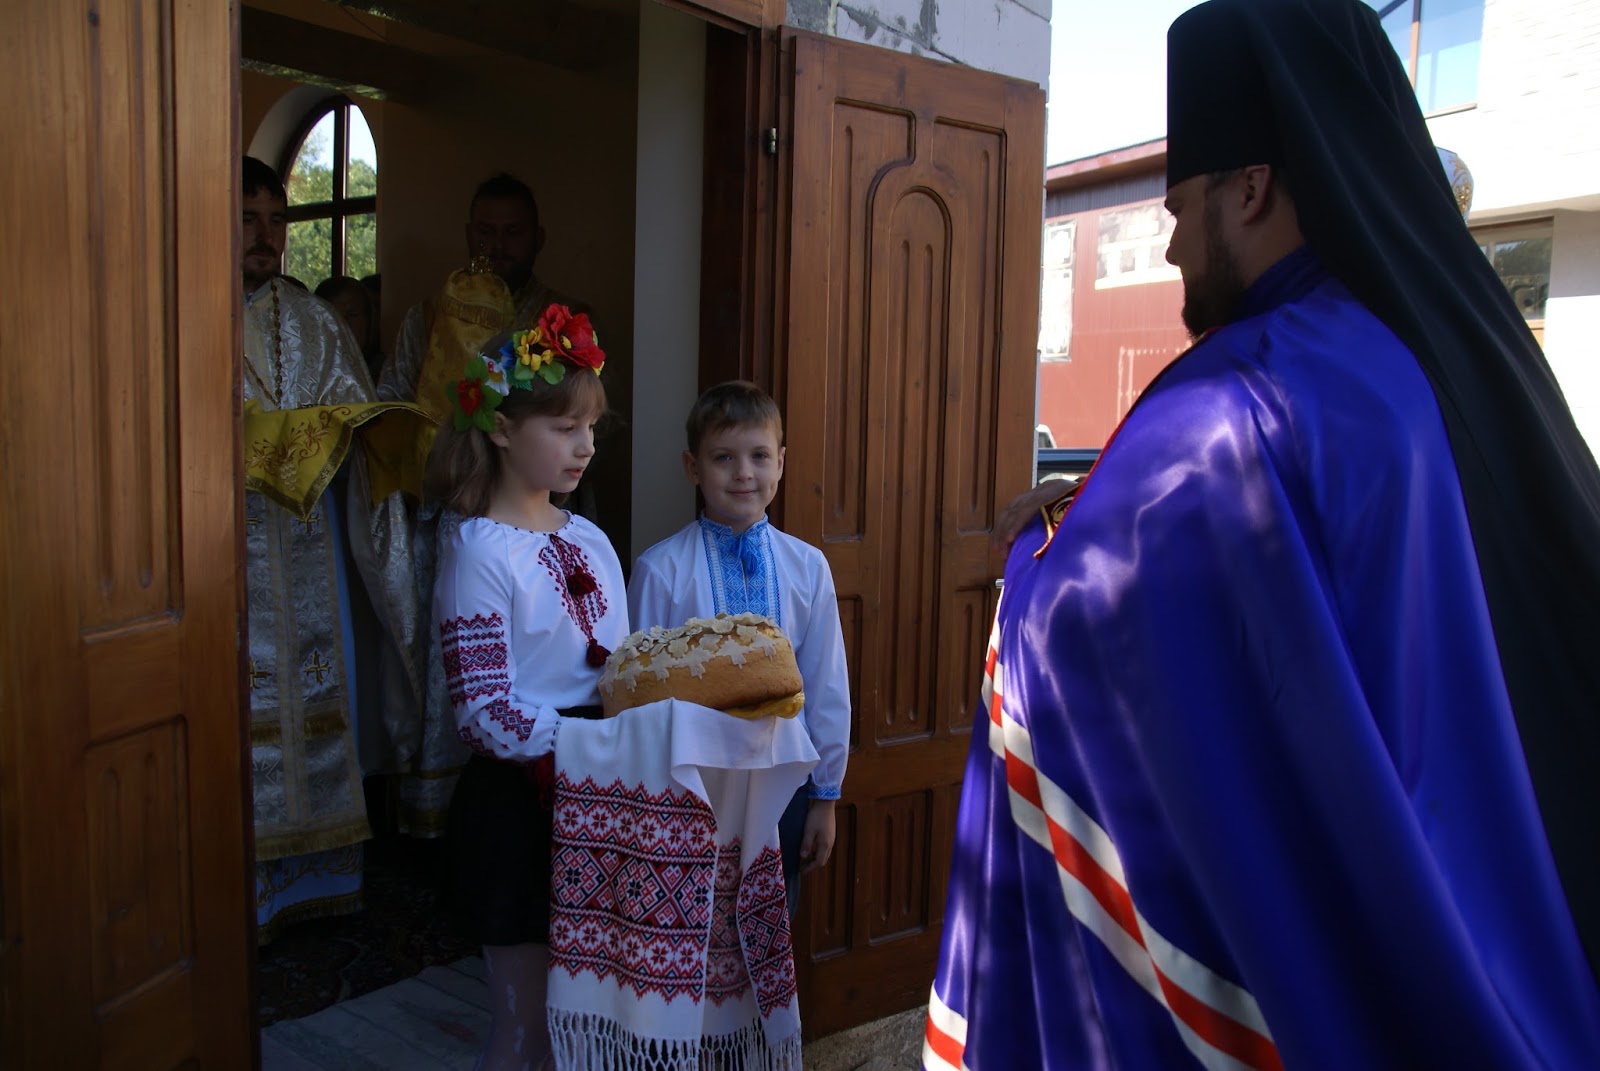
<svg viewBox="0 0 1600 1071"><path fill-rule="evenodd" d="M261 5L317 22L334 5ZM304 11L302 11L304 10ZM338 10L333 11L338 16ZM315 18L314 18L315 16ZM536 274L592 307L606 351L606 389L624 418L594 463L600 522L626 557L634 375L634 176L637 35L592 72L541 64L454 37L370 19L382 40L424 58L426 93L406 102L360 99L378 146L378 259L384 351L405 311L466 264L467 202L480 181L509 171L533 187L546 247ZM250 43L243 45L250 56ZM296 83L245 70L243 146Z"/></svg>

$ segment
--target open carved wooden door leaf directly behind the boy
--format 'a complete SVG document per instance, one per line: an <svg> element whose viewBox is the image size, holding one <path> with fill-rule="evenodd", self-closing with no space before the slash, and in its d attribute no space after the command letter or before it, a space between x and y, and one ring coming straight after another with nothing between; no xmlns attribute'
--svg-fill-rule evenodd
<svg viewBox="0 0 1600 1071"><path fill-rule="evenodd" d="M834 861L802 887L819 1036L928 996L1002 559L1029 482L1043 93L787 34L782 519L827 554L854 692Z"/></svg>

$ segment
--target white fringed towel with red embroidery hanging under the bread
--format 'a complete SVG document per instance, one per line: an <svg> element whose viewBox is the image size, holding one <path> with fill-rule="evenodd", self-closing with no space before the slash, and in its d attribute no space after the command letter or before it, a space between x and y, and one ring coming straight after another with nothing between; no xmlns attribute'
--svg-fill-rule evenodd
<svg viewBox="0 0 1600 1071"><path fill-rule="evenodd" d="M795 719L664 700L555 743L549 1023L558 1071L800 1071L778 816Z"/></svg>

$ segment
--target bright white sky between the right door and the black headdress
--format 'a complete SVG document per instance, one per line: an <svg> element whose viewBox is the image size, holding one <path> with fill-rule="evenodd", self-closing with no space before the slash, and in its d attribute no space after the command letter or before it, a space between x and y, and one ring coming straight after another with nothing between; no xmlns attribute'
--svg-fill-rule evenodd
<svg viewBox="0 0 1600 1071"><path fill-rule="evenodd" d="M1166 133L1166 27L1198 0L1054 0L1045 160Z"/></svg>

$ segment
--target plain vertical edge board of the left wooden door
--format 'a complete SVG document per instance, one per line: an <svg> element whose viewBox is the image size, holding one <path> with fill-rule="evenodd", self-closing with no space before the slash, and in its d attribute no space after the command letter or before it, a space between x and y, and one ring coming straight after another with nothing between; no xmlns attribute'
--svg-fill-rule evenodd
<svg viewBox="0 0 1600 1071"><path fill-rule="evenodd" d="M171 0L171 189L181 517L181 709L189 740L195 1063L254 1063L254 874L245 733L238 307L238 6Z"/></svg>

